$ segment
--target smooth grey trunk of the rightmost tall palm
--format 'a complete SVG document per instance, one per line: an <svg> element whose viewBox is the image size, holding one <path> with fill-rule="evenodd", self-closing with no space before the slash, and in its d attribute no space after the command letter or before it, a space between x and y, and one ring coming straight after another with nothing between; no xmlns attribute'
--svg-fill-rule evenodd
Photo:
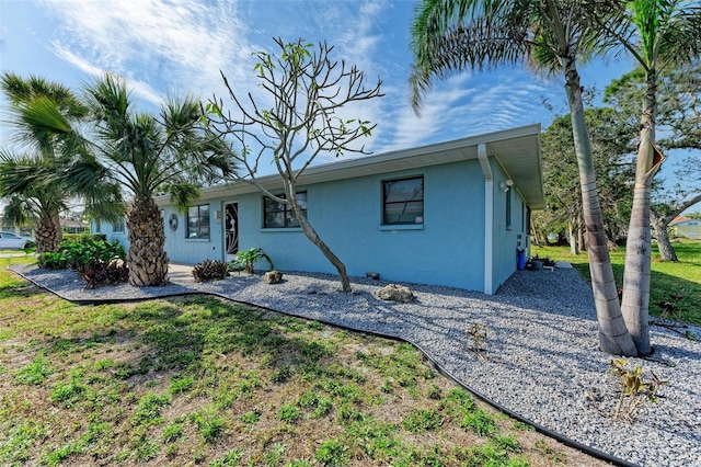
<svg viewBox="0 0 701 467"><path fill-rule="evenodd" d="M625 327L631 333L637 353L652 353L650 343L650 274L652 239L650 232L650 195L653 176L662 164L655 157L655 71L646 77L644 110L641 121L633 208L625 241L625 271L623 274L623 300L621 310Z"/></svg>

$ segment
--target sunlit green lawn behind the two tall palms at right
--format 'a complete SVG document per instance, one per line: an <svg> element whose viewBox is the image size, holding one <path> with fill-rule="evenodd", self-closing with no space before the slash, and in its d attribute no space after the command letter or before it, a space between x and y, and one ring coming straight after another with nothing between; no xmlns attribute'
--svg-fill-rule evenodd
<svg viewBox="0 0 701 467"><path fill-rule="evenodd" d="M678 262L660 261L657 244L653 243L650 284L650 312L693 324L701 324L701 241L685 240L674 243ZM589 259L586 252L570 254L567 247L536 247L531 254L568 261L589 281ZM613 275L619 287L623 284L625 249L611 251Z"/></svg>

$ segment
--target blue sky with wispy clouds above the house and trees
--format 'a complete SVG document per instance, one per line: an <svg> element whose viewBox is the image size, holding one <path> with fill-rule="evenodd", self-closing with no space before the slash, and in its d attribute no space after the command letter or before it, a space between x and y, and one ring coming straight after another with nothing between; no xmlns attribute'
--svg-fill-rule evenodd
<svg viewBox="0 0 701 467"><path fill-rule="evenodd" d="M0 70L36 75L78 89L105 71L127 80L139 109L156 113L169 95L260 95L252 53L274 37L334 46L384 96L344 110L377 123L364 141L375 153L540 123L566 113L563 80L506 68L462 73L426 95L421 117L409 104L413 0L0 0ZM585 87L604 89L631 62L582 68ZM225 100L225 104L227 104ZM5 102L0 100L0 104ZM7 124L0 135L7 137Z"/></svg>

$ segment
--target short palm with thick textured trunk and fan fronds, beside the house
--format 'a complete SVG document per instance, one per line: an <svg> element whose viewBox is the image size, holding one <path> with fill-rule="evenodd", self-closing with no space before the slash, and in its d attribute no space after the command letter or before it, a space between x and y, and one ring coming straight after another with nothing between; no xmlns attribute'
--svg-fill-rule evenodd
<svg viewBox="0 0 701 467"><path fill-rule="evenodd" d="M120 185L131 197L127 210L129 283L168 282L168 254L161 212L153 196L170 192L181 208L192 204L202 183L230 176L231 150L204 130L199 102L170 100L160 118L133 111L126 83L107 75L85 90L93 157L68 176L89 193L93 181ZM94 196L100 198L99 195Z"/></svg>

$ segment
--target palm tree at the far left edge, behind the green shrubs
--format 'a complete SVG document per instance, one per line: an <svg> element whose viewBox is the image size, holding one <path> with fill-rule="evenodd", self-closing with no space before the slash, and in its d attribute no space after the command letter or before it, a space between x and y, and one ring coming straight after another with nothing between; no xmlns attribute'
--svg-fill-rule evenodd
<svg viewBox="0 0 701 467"><path fill-rule="evenodd" d="M56 174L80 151L62 129L78 125L87 109L68 88L37 77L5 72L0 88L10 101L12 139L22 148L21 153L0 151L0 197L10 200L5 217L15 225L36 221L37 252L56 251L59 214L71 195L67 181Z"/></svg>

